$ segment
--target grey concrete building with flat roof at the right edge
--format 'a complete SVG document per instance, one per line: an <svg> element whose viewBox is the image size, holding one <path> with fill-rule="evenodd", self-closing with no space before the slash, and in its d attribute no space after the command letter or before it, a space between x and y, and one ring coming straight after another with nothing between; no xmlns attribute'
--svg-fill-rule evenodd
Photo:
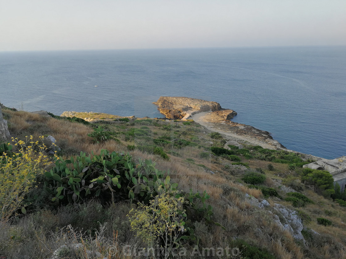
<svg viewBox="0 0 346 259"><path fill-rule="evenodd" d="M320 159L316 162L303 165L303 168L311 168L316 170L325 170L333 175L334 185L340 185L340 191L344 192L346 188L346 156L340 156L336 159Z"/></svg>

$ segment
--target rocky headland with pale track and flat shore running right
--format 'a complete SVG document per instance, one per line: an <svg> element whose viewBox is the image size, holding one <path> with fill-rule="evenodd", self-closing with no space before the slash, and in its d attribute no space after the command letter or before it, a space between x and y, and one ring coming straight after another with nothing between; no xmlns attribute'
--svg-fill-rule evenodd
<svg viewBox="0 0 346 259"><path fill-rule="evenodd" d="M237 113L224 109L217 102L209 102L188 97L161 96L157 109L168 119L193 119L193 121L208 128L208 130L226 135L230 140L260 145L265 148L285 148L267 131L245 124L232 122Z"/></svg>

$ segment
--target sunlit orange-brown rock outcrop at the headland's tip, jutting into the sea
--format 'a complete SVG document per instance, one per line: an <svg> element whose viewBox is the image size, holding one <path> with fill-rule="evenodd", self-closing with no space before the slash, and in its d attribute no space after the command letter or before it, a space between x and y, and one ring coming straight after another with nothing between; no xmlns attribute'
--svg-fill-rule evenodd
<svg viewBox="0 0 346 259"><path fill-rule="evenodd" d="M217 112L224 119L231 119L237 114L235 111L222 109L217 102L188 97L161 96L153 104L169 119L183 119L186 115L208 111Z"/></svg>

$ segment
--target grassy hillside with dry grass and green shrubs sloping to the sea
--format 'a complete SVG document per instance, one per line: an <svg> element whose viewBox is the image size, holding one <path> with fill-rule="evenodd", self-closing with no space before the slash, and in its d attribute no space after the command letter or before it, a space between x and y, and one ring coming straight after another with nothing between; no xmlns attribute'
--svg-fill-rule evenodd
<svg viewBox="0 0 346 259"><path fill-rule="evenodd" d="M221 251L227 247L238 248L240 255L230 253L227 256L223 250L222 255L221 252L215 253L215 258L346 258L345 207L301 182L301 167L308 161L297 154L251 145L244 145L243 149L230 146L226 151L222 148L226 143L222 135L192 121L116 118L90 124L76 118L45 118L6 108L2 112L9 122L11 135L18 140L25 140L30 135L34 141L39 140L39 136L53 136L61 149L56 153L61 161L69 161L71 156L72 160L78 160L81 152L91 157L100 155L102 150L124 152L123 158L127 157L126 153L131 156L130 160L126 159L128 164L133 164L135 172L141 168L138 167L140 161L142 168L149 168L149 162L144 161L151 160L150 165L154 165L158 172L162 171L162 181L169 175L170 186L176 183L174 186L181 196L186 194L184 197L187 197L189 193L202 195L206 191L209 199L204 201L197 195L191 198L192 203L196 208L204 208L203 203L207 208L211 205L212 214L200 217L198 211L189 212L191 204L184 205L187 215L184 217L182 213L179 217L187 222L186 226L190 224L193 233L189 230L189 239L177 241L186 253L174 258L184 255L187 258L206 258L203 248L215 248L215 251L219 248ZM48 142L44 140L50 146ZM15 153L15 149L12 151ZM54 160L54 156L49 159ZM44 171L54 166L52 164ZM46 190L52 186L45 185L49 182L46 178L44 173L37 175L33 184L37 187L25 197L31 199L25 211L20 206L8 221L0 223L0 256L146 257L145 250L138 249L147 248L146 241L138 231L133 231L127 216L131 209L137 208L140 198L132 199L130 194L118 192L114 195L121 196L121 199L110 198L102 196L102 189L101 195L92 195L83 201L69 202L65 197L52 201L54 195ZM269 207L258 207L256 199L265 199ZM281 222L285 219L275 209L275 203L297 211L303 220L301 233L304 240L295 240L289 231L277 225L275 215ZM137 208L137 211L142 210ZM319 218L329 220L331 224ZM186 236L188 232L184 233ZM179 237L182 235L178 233ZM159 243L162 242L160 239ZM137 257L134 251L132 255L126 253L127 246L135 250ZM195 246L198 246L201 256ZM202 252L205 252L204 256Z"/></svg>

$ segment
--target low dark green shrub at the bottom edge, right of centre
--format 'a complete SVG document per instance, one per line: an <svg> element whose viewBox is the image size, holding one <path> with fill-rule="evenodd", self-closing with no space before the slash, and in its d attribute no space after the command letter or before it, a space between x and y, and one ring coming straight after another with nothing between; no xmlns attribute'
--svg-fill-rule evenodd
<svg viewBox="0 0 346 259"><path fill-rule="evenodd" d="M231 247L239 248L242 259L275 259L275 257L266 249L252 246L243 239L237 239L231 244Z"/></svg>

